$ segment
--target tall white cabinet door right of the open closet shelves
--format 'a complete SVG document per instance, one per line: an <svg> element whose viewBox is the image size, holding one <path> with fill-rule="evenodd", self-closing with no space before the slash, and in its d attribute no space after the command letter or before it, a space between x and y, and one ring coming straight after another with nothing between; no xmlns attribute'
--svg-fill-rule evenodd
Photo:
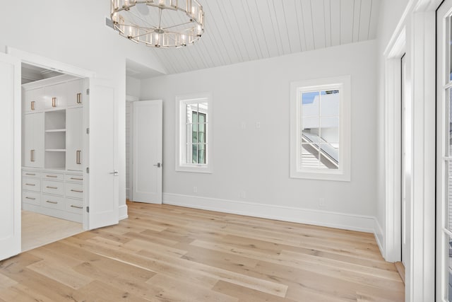
<svg viewBox="0 0 452 302"><path fill-rule="evenodd" d="M83 108L66 110L66 170L82 170Z"/></svg>

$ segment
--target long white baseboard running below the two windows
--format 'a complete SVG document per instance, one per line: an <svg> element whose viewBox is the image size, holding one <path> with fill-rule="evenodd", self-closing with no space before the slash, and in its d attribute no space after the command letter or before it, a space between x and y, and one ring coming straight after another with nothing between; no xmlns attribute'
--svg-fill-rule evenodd
<svg viewBox="0 0 452 302"><path fill-rule="evenodd" d="M255 204L234 200L196 197L182 194L163 194L163 203L180 207L206 209L230 214L261 217L281 221L307 223L316 226L342 228L351 231L376 233L376 219L373 216L336 213L315 209L281 207L271 204Z"/></svg>

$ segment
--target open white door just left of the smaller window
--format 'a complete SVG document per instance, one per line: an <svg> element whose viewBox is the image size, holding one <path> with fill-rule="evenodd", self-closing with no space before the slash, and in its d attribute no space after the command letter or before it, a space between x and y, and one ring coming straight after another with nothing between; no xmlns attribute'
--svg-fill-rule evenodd
<svg viewBox="0 0 452 302"><path fill-rule="evenodd" d="M162 100L133 102L133 201L162 203Z"/></svg>

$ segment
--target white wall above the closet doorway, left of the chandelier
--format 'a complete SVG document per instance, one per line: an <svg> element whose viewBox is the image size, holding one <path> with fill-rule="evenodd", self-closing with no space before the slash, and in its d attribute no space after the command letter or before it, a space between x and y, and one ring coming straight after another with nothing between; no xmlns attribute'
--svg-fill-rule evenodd
<svg viewBox="0 0 452 302"><path fill-rule="evenodd" d="M6 46L95 71L119 93L119 207L125 209L126 58L164 72L153 52L105 26L109 1L3 1L0 51ZM120 214L124 216L124 214Z"/></svg>

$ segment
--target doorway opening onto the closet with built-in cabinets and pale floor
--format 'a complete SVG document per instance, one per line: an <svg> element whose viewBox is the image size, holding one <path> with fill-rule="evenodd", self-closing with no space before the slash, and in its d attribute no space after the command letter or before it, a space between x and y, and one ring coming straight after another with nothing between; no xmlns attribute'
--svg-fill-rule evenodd
<svg viewBox="0 0 452 302"><path fill-rule="evenodd" d="M21 64L22 252L83 232L83 82Z"/></svg>

